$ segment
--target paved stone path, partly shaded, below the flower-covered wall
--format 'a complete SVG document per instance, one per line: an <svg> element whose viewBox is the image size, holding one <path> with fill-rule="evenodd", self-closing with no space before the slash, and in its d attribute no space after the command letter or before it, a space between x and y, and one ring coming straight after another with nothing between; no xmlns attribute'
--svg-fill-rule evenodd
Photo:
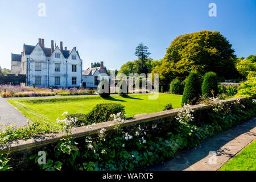
<svg viewBox="0 0 256 182"><path fill-rule="evenodd" d="M253 118L206 139L195 148L178 151L176 157L168 162L155 164L147 169L154 171L215 171L255 139L256 118Z"/></svg>

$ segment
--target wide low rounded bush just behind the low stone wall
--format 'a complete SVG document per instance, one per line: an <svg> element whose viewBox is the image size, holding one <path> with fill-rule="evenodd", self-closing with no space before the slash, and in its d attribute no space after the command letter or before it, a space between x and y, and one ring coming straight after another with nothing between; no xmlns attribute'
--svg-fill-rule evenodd
<svg viewBox="0 0 256 182"><path fill-rule="evenodd" d="M97 104L86 114L85 125L110 121L110 115L117 113L121 113L121 118L125 118L125 106L115 103Z"/></svg>

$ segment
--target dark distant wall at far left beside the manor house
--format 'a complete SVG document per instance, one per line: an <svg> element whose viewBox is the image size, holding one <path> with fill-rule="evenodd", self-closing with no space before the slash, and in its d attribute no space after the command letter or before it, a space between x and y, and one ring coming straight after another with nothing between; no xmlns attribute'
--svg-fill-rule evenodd
<svg viewBox="0 0 256 182"><path fill-rule="evenodd" d="M11 85L20 85L20 83L26 83L26 75L15 75L7 74L0 75L0 85L11 84Z"/></svg>

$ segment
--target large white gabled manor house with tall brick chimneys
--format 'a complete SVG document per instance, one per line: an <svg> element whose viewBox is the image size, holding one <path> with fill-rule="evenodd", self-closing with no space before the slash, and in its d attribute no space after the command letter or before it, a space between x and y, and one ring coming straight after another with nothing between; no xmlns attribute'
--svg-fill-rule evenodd
<svg viewBox="0 0 256 182"><path fill-rule="evenodd" d="M82 60L76 47L63 49L44 47L44 39L36 46L23 44L21 55L12 54L11 73L27 75L26 85L71 88L82 85Z"/></svg>

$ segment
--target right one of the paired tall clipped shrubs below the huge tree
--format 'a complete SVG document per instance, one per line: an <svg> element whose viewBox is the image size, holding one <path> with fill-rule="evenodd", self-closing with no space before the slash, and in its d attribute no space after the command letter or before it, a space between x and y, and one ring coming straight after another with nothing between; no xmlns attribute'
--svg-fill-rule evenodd
<svg viewBox="0 0 256 182"><path fill-rule="evenodd" d="M202 95L205 98L214 97L218 94L218 78L216 73L208 72L204 75Z"/></svg>

